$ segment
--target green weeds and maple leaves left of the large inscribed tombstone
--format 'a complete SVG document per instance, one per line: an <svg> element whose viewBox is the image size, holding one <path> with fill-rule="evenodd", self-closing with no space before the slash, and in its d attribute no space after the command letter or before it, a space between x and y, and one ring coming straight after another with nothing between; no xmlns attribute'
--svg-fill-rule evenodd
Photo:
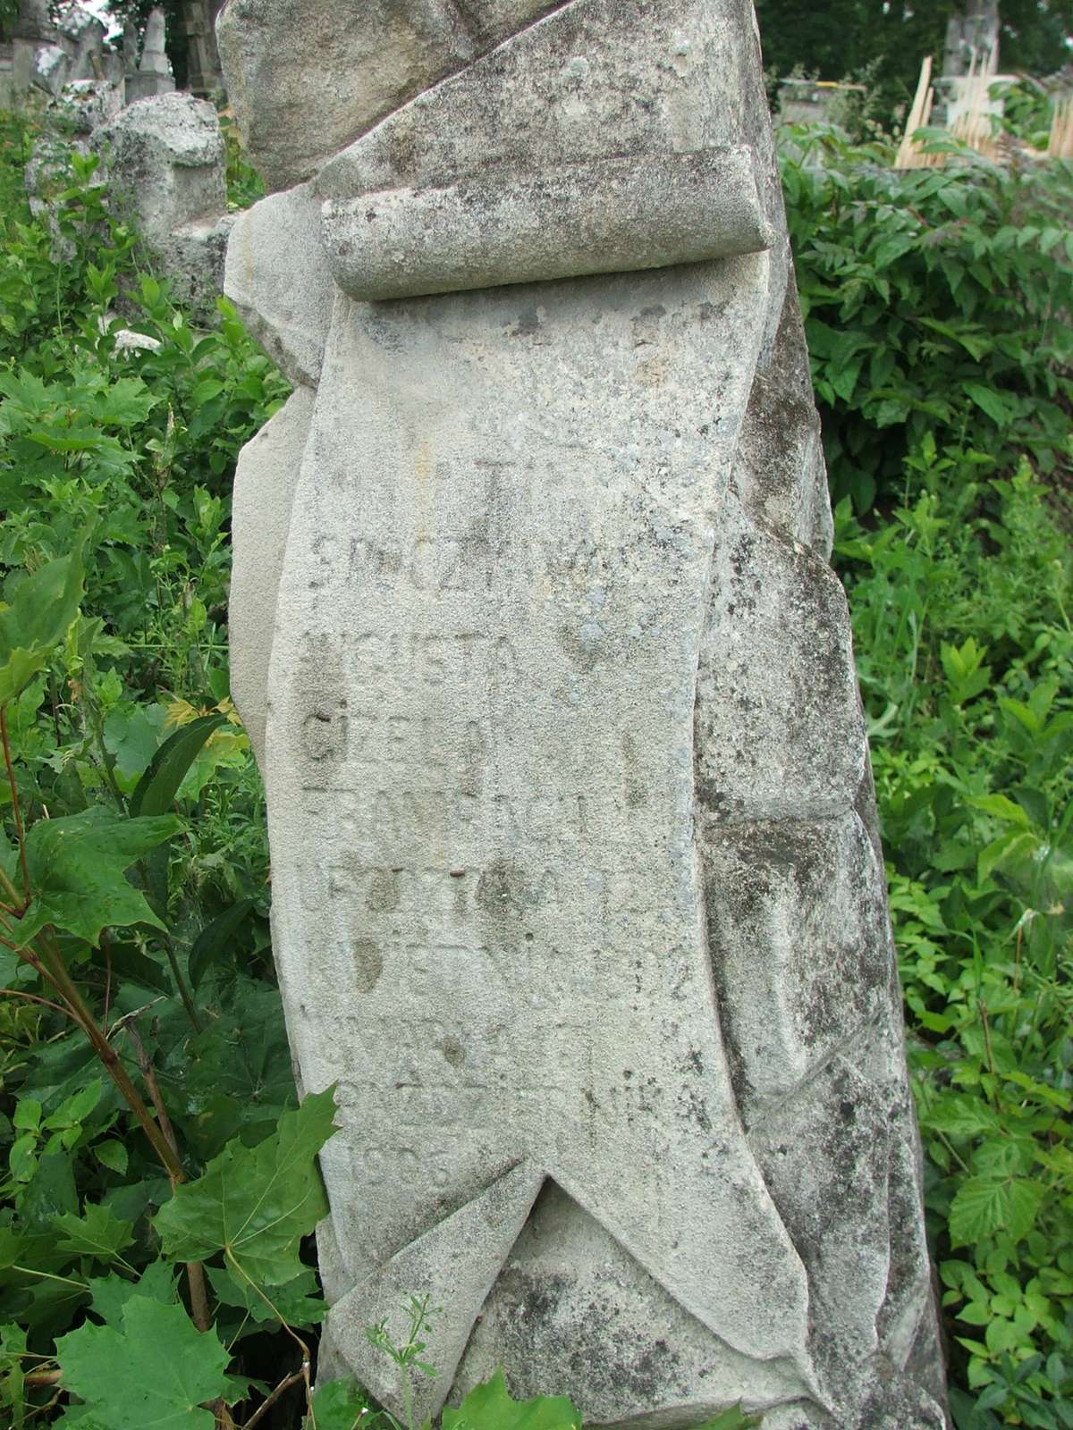
<svg viewBox="0 0 1073 1430"><path fill-rule="evenodd" d="M330 1094L293 1111L223 636L230 475L286 385L139 272L92 160L31 216L27 144L0 130L0 1419L212 1426L323 1314ZM192 1207L227 1240L176 1280Z"/></svg>

